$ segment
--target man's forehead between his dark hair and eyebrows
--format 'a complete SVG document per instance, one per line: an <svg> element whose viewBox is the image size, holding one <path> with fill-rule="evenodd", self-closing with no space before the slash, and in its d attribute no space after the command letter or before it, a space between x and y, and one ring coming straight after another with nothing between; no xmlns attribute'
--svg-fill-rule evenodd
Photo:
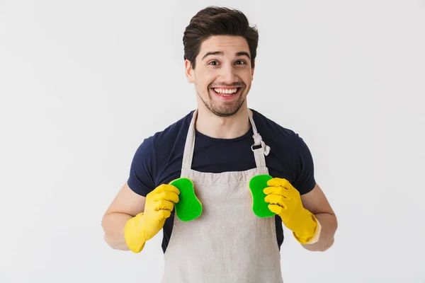
<svg viewBox="0 0 425 283"><path fill-rule="evenodd" d="M236 52L249 52L249 45L246 39L242 36L235 35L213 35L204 40L200 45L199 55L203 57L203 54L207 52L221 51L225 54L231 54L234 56Z"/></svg>

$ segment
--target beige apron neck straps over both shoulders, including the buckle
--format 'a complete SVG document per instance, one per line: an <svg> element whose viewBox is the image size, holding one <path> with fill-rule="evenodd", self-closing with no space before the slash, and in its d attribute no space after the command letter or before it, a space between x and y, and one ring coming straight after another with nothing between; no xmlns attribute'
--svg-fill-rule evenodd
<svg viewBox="0 0 425 283"><path fill-rule="evenodd" d="M251 145L251 150L254 152L254 158L257 168L266 167L266 158L264 156L268 155L270 152L270 146L267 146L259 132L257 132L254 119L252 118L251 110L249 112L249 122L251 122L252 131L254 135L252 136L254 139L254 144ZM185 170L190 170L192 166L193 160L193 151L195 149L195 123L196 117L198 116L198 109L193 111L191 124L189 125L188 134L186 137L186 143L183 151L183 163L182 168ZM254 149L254 146L261 146L257 149Z"/></svg>

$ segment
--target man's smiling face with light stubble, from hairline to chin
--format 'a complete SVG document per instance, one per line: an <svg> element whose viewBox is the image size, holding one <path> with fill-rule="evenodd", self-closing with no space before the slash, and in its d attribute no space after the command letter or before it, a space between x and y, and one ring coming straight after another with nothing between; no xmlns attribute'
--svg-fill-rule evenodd
<svg viewBox="0 0 425 283"><path fill-rule="evenodd" d="M198 100L220 117L234 115L246 103L254 68L244 37L216 35L200 45L196 67L186 60L186 76Z"/></svg>

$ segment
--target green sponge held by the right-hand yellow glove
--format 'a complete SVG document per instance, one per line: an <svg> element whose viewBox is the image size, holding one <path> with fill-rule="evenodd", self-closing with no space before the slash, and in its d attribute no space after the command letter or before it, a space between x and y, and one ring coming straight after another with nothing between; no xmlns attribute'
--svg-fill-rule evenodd
<svg viewBox="0 0 425 283"><path fill-rule="evenodd" d="M252 196L252 211L256 216L261 218L275 216L274 212L268 209L268 202L264 200L266 194L263 190L268 187L267 181L271 180L271 175L256 175L249 180L249 190L251 190Z"/></svg>

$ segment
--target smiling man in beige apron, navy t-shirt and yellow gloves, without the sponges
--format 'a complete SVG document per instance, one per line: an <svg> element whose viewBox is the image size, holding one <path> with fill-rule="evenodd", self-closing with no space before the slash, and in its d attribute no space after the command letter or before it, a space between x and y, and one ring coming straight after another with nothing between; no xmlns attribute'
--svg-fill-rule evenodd
<svg viewBox="0 0 425 283"><path fill-rule="evenodd" d="M247 107L259 35L240 11L208 7L183 35L186 76L198 109L145 139L130 178L103 216L109 246L140 253L163 230L162 282L283 282L283 225L307 250L334 243L336 216L314 180L312 156L290 129ZM253 211L249 181L271 217ZM203 212L175 216L178 178L193 181Z"/></svg>

